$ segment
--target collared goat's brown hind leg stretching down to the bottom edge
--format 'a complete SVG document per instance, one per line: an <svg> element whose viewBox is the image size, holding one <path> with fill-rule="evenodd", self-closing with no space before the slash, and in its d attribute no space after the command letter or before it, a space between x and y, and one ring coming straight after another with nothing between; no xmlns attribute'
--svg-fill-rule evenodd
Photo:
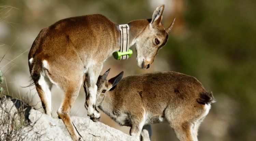
<svg viewBox="0 0 256 141"><path fill-rule="evenodd" d="M67 82L67 85L68 86L64 89L64 97L57 114L68 129L71 138L75 141L83 140L80 134L77 132L76 128L74 127L70 118L70 109L77 96L79 95L79 90L82 85L82 77L79 81Z"/></svg>

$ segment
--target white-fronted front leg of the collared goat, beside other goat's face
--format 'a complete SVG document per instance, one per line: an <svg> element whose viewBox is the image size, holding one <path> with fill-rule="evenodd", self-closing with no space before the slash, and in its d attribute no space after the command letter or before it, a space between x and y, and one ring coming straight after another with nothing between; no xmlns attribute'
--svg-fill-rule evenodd
<svg viewBox="0 0 256 141"><path fill-rule="evenodd" d="M86 103L88 104L87 107L87 115L90 117L91 120L94 122L99 121L100 113L96 109L96 99L97 99L97 79L99 77L99 72L101 71L100 67L94 67L88 69L88 96L86 97Z"/></svg>

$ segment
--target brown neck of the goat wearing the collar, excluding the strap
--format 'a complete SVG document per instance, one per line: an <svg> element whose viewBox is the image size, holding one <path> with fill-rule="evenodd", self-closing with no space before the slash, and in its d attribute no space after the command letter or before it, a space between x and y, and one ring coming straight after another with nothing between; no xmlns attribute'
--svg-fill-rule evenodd
<svg viewBox="0 0 256 141"><path fill-rule="evenodd" d="M129 25L129 46L130 48L134 43L136 43L136 38L145 30L147 25L149 24L148 20L142 19L142 20L134 20L130 21L128 23ZM121 36L120 36L120 31L119 31L119 26L116 25L116 35L117 35L117 40L116 40L116 47L114 48L114 52L120 50L120 44L121 44Z"/></svg>

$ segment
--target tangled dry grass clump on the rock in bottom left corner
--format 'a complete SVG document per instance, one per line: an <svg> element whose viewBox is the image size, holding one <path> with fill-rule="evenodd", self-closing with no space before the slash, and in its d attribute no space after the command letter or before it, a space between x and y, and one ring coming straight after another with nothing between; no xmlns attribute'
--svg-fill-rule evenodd
<svg viewBox="0 0 256 141"><path fill-rule="evenodd" d="M35 124L29 122L30 109L31 107L26 103L12 99L10 96L0 98L0 140L26 140ZM36 134L34 140L39 140L42 136L43 134Z"/></svg>

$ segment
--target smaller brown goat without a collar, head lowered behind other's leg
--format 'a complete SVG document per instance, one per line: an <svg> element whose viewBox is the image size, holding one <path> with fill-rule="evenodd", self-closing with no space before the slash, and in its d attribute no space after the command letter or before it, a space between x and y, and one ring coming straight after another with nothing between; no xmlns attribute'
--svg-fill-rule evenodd
<svg viewBox="0 0 256 141"><path fill-rule="evenodd" d="M166 120L180 141L197 141L199 125L214 97L196 78L176 72L157 72L122 79L121 72L107 80L109 71L98 78L96 106L118 124L130 126L131 136L150 140L150 124ZM87 96L86 85L85 80Z"/></svg>

